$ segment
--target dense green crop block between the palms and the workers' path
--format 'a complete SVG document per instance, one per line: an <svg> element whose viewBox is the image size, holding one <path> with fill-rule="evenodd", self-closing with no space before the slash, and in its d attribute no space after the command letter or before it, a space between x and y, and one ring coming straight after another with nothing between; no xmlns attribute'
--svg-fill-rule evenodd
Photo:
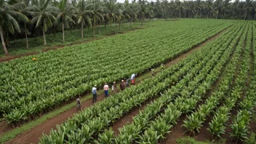
<svg viewBox="0 0 256 144"><path fill-rule="evenodd" d="M45 52L34 61L29 56L1 63L1 116L10 123L41 116L95 84L141 73L172 59L232 24L223 20L187 22L192 21L191 25L169 23ZM140 39L144 36L148 39Z"/></svg>

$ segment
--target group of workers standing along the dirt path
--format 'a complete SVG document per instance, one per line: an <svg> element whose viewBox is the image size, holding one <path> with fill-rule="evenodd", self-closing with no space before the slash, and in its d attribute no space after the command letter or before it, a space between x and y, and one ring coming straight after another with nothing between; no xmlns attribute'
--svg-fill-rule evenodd
<svg viewBox="0 0 256 144"><path fill-rule="evenodd" d="M164 65L161 64L161 70L163 71L164 70ZM155 71L154 69L152 68L151 69L151 75L152 76L155 76ZM129 81L131 81L131 84L132 85L135 85L135 77L137 76L137 73L133 73L131 78L127 79L127 83L125 84L124 83L124 80L121 80L120 82L120 90L123 91L128 85L129 85ZM105 97L108 97L108 90L109 90L109 87L108 87L108 84L105 83L104 87L104 93L105 93ZM113 93L117 93L117 87L116 87L116 81L113 81L113 85L112 85L112 92ZM79 111L81 111L81 97L78 97L76 99L76 104L77 104L77 109ZM95 87L92 87L92 103L96 103L97 101L97 85L95 85Z"/></svg>

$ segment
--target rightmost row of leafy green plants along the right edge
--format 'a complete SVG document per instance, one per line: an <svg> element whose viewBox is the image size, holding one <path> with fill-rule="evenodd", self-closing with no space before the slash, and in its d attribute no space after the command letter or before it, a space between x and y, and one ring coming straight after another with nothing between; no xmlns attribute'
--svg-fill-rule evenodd
<svg viewBox="0 0 256 144"><path fill-rule="evenodd" d="M253 35L253 37L252 37ZM231 137L236 140L236 143L240 141L244 141L248 138L249 134L249 122L252 119L252 113L254 111L254 108L256 107L256 70L255 70L255 62L256 60L250 59L249 55L249 49L252 49L252 55L255 56L256 50L255 50L255 28L252 26L252 33L249 31L248 33L248 42L247 42L247 57L246 57L246 65L247 70L249 70L249 61L252 61L252 76L249 77L251 79L248 92L246 93L245 97L241 102L239 103L239 110L237 111L237 115L235 119L233 119L233 123L231 124ZM250 44L252 42L252 45Z"/></svg>

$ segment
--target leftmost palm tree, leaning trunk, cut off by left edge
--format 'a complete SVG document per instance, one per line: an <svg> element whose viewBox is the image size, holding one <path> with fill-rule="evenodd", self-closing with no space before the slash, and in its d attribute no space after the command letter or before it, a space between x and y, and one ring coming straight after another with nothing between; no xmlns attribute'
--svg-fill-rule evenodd
<svg viewBox="0 0 256 144"><path fill-rule="evenodd" d="M6 1L0 1L0 36L5 55L8 55L7 47L4 43L4 33L14 34L15 31L20 33L20 26L17 21L27 23L28 17L20 12L15 11L15 7L7 4Z"/></svg>

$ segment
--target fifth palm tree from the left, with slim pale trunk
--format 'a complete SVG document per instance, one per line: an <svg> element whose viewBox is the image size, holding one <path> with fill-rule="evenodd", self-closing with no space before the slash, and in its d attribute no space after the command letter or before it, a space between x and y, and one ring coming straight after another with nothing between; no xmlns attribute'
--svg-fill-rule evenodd
<svg viewBox="0 0 256 144"><path fill-rule="evenodd" d="M84 0L79 1L79 7L76 9L74 17L76 17L76 23L81 23L81 39L84 39L84 25L87 23L89 27L92 26L91 19L89 16L91 15L91 11L87 10L88 5Z"/></svg>

